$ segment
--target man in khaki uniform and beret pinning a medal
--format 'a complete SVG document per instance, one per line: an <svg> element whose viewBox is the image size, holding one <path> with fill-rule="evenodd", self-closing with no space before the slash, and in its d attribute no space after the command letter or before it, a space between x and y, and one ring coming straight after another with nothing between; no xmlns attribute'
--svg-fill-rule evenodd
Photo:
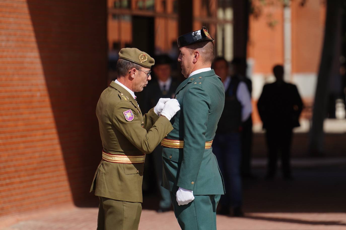
<svg viewBox="0 0 346 230"><path fill-rule="evenodd" d="M145 154L173 130L170 119L180 110L176 99L160 98L142 115L134 92L148 84L154 63L136 48L121 49L118 78L97 103L103 150L90 192L100 198L98 230L138 229Z"/></svg>

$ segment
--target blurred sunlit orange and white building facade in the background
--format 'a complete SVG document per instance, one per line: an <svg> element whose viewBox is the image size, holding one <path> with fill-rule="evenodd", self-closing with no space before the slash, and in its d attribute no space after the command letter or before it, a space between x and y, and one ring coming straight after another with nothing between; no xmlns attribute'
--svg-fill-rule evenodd
<svg viewBox="0 0 346 230"><path fill-rule="evenodd" d="M285 67L285 80L297 84L306 105L302 117L311 117L317 83L326 5L324 1L253 0L249 15L247 75L253 82L253 119L260 123L256 102L265 83L273 81L272 68ZM265 4L263 3L265 2ZM149 54L179 55L178 0L108 0L108 48L113 66L123 47L142 48ZM192 29L202 26L216 39L217 56L234 58L232 0L193 0ZM113 71L112 71L113 70ZM110 79L116 78L115 68Z"/></svg>

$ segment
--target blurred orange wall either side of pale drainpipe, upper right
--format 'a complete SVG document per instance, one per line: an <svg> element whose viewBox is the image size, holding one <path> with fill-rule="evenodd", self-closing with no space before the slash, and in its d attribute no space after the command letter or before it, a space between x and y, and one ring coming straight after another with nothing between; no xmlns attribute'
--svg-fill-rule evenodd
<svg viewBox="0 0 346 230"><path fill-rule="evenodd" d="M254 1L260 4L258 0ZM275 1L274 1L275 2ZM322 1L291 1L292 73L316 73L322 49L325 4ZM258 18L250 16L248 57L255 60L254 73L272 74L284 62L283 6L262 6ZM268 23L276 24L272 27Z"/></svg>

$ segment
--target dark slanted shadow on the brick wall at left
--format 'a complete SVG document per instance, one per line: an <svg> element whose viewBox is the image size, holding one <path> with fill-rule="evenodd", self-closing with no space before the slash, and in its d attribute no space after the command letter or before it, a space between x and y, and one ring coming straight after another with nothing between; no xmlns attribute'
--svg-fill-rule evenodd
<svg viewBox="0 0 346 230"><path fill-rule="evenodd" d="M27 3L73 202L94 206L89 189L102 149L95 107L107 84L106 1Z"/></svg>

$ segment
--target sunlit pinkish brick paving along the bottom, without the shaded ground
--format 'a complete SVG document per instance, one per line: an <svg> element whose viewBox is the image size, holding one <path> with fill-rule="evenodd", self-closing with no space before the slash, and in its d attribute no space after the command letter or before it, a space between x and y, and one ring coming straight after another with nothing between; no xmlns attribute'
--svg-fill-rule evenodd
<svg viewBox="0 0 346 230"><path fill-rule="evenodd" d="M97 208L69 207L19 220L3 230L95 230ZM179 230L173 211L143 210L140 230ZM244 218L218 215L218 230L346 230L346 213L246 213Z"/></svg>

